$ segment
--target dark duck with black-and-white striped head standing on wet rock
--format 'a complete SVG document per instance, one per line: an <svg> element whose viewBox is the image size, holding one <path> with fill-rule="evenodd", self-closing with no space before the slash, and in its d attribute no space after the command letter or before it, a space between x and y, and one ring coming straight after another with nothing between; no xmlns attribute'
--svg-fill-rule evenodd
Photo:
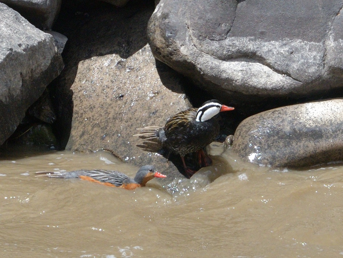
<svg viewBox="0 0 343 258"><path fill-rule="evenodd" d="M209 100L204 102L200 108L191 108L177 113L167 121L164 127L137 128L142 132L134 136L145 136L146 140L157 138L163 146L178 153L181 156L186 175L191 177L195 171L186 166L184 156L198 152L200 165L209 165L206 159L210 159L210 157L204 153L203 148L218 136L217 115L229 110L234 110L234 108L223 105L218 100Z"/></svg>

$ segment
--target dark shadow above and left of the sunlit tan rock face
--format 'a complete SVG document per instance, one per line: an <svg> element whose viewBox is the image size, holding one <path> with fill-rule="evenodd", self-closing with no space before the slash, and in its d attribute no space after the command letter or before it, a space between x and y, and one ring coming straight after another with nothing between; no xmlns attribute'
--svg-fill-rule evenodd
<svg viewBox="0 0 343 258"><path fill-rule="evenodd" d="M63 1L54 31L68 37L62 57L64 69L50 85L56 109L54 132L58 149L67 145L73 115L70 90L80 61L117 54L128 58L147 44L146 26L154 11L153 1L132 0L125 7L101 1Z"/></svg>

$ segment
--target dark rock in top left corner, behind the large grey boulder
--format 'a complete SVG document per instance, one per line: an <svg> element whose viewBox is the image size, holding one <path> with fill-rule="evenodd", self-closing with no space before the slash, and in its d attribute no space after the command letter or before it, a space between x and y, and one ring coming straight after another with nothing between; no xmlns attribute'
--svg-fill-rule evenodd
<svg viewBox="0 0 343 258"><path fill-rule="evenodd" d="M1 0L39 29L50 30L61 7L61 0Z"/></svg>

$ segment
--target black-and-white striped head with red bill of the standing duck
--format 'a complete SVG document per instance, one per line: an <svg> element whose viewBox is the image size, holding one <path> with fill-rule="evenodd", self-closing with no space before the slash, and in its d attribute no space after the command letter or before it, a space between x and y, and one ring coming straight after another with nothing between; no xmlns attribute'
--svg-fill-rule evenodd
<svg viewBox="0 0 343 258"><path fill-rule="evenodd" d="M216 99L208 100L203 103L197 111L197 122L203 122L211 119L213 116L222 111L234 110L231 106L226 106Z"/></svg>

